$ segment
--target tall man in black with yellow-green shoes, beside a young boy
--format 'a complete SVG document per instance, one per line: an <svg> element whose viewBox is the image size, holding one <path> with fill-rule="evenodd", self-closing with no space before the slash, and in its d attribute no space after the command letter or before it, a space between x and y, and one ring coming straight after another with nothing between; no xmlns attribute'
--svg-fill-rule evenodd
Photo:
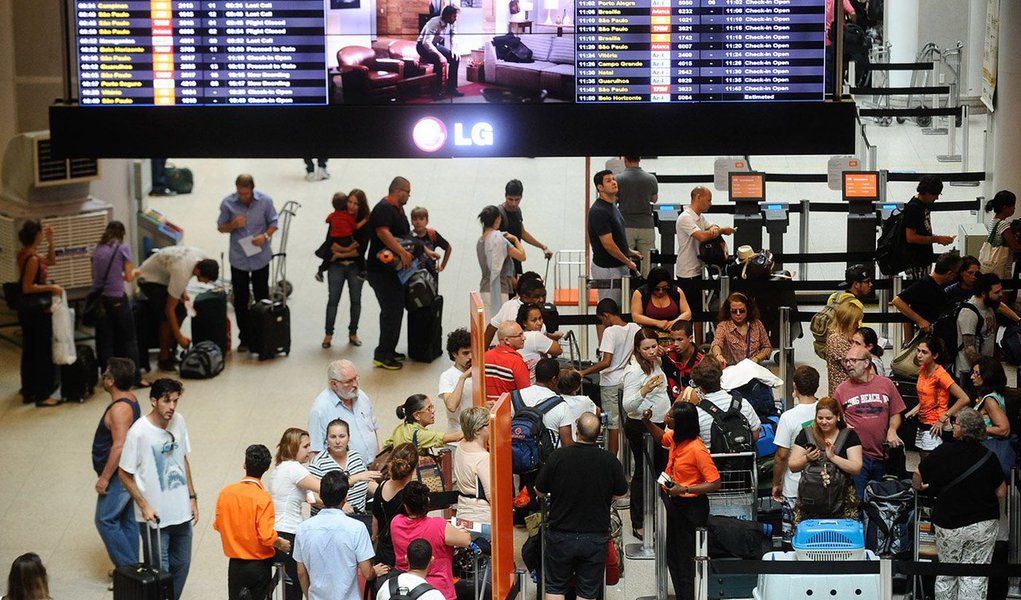
<svg viewBox="0 0 1021 600"><path fill-rule="evenodd" d="M397 242L397 238L411 235L411 224L404 214L404 205L410 196L410 182L401 177L394 178L386 197L373 208L367 226L372 232L372 239L369 241L366 280L380 304L380 341L373 351L373 364L391 370L401 368L401 360L404 359L403 354L397 353L397 339L404 320L404 286L397 277L397 270L410 266L412 257ZM386 262L380 259L383 250L390 251Z"/></svg>

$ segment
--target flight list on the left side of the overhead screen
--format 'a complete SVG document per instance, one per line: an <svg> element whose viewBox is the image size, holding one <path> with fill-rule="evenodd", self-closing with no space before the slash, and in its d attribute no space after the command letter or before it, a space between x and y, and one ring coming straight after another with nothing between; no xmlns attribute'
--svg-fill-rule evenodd
<svg viewBox="0 0 1021 600"><path fill-rule="evenodd" d="M82 105L327 102L323 0L77 0Z"/></svg>

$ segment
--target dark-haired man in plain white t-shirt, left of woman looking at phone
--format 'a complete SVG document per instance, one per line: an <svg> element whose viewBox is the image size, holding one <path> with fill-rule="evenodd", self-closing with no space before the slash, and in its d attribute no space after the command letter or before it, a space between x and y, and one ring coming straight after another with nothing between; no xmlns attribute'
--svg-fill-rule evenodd
<svg viewBox="0 0 1021 600"><path fill-rule="evenodd" d="M790 459L790 449L794 447L794 438L801 430L811 428L816 419L816 392L819 391L819 371L807 364L794 369L791 380L794 386L796 404L780 415L776 428L776 456L773 462L773 499L780 503L780 515L783 521L783 543L790 544L794 535L794 503L797 501L797 484L801 481L800 472L792 472L787 467Z"/></svg>

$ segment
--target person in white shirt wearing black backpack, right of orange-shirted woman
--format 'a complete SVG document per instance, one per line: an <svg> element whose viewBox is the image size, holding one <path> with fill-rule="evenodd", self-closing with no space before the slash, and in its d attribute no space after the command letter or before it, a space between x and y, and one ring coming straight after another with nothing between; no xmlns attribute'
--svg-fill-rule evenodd
<svg viewBox="0 0 1021 600"><path fill-rule="evenodd" d="M698 437L712 454L751 452L759 438L759 415L747 400L720 387L723 367L710 357L691 369L698 391Z"/></svg>

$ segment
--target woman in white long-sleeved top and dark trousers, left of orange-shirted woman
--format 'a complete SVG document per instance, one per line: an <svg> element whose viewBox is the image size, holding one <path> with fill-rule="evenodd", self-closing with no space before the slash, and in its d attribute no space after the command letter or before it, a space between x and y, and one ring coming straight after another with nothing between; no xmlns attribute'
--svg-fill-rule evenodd
<svg viewBox="0 0 1021 600"><path fill-rule="evenodd" d="M628 438L628 446L635 461L634 476L631 478L631 533L641 540L645 535L644 481L647 474L642 414L645 410L651 410L652 423L662 428L667 412L670 411L667 376L663 372L660 338L654 330L645 328L635 334L634 350L631 360L624 368L621 390L621 401L627 413L624 435ZM660 472L667 463L666 452L659 445L653 445L652 453L652 460L655 461L653 471Z"/></svg>

